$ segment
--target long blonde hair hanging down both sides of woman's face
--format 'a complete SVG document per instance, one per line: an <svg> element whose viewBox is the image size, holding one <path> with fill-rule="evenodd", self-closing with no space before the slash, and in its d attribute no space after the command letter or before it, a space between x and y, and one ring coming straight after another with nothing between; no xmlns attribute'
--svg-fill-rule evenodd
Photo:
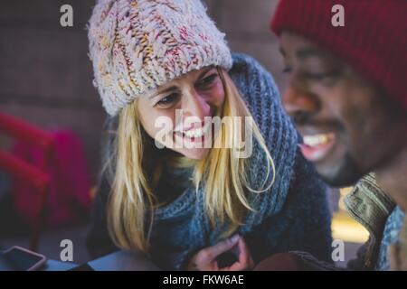
<svg viewBox="0 0 407 289"><path fill-rule="evenodd" d="M251 117L248 107L228 73L222 69L218 71L225 93L225 100L218 113L221 117ZM267 158L267 173L260 188L252 189L249 185L246 172L249 159L236 157L233 155L232 148L223 145L211 148L202 160L187 161L185 158L175 160L178 165L194 166L192 180L196 191L201 185L204 186L204 206L212 226L217 221L228 224L227 229L222 233L222 238L230 236L243 225L244 217L253 210L246 189L260 193L270 190L274 182L274 163L254 121L251 122L250 129L251 135L257 140ZM224 126L222 124L215 139L217 137L222 137L222 140L228 144L232 139L241 137L241 131L234 122ZM118 247L143 252L148 251L154 209L159 206L154 188L150 184L159 180L161 170L158 163L163 163L154 163L151 161L153 155L147 155L154 145L147 144L147 138L139 121L135 101L123 108L119 115L117 163L112 191L109 195L108 227L109 234ZM161 157L165 157L164 154L161 154ZM154 172L155 180L148 179L147 167ZM271 170L272 178L266 186ZM147 213L149 213L149 219L146 225Z"/></svg>

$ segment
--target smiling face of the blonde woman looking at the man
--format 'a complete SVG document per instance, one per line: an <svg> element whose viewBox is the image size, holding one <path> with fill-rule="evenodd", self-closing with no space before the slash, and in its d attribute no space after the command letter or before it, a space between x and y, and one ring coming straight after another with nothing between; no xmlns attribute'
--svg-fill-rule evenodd
<svg viewBox="0 0 407 289"><path fill-rule="evenodd" d="M214 117L224 98L218 70L206 67L138 98L138 116L156 143L188 158L201 159L209 149L204 145L205 137L213 137L212 126L204 126L205 117Z"/></svg>

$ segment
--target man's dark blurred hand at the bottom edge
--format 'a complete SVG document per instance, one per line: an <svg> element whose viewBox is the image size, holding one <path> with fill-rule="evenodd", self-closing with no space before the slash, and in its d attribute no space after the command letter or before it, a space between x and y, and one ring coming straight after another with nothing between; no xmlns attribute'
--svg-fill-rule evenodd
<svg viewBox="0 0 407 289"><path fill-rule="evenodd" d="M298 256L290 253L279 253L262 260L253 271L301 271Z"/></svg>

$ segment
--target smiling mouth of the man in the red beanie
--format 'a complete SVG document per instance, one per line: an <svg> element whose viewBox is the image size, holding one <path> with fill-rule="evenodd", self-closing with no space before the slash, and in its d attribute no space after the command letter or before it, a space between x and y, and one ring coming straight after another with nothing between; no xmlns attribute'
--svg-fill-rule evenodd
<svg viewBox="0 0 407 289"><path fill-rule="evenodd" d="M335 144L335 135L319 134L319 135L304 135L304 144L300 144L301 153L310 162L320 162L331 151Z"/></svg>

